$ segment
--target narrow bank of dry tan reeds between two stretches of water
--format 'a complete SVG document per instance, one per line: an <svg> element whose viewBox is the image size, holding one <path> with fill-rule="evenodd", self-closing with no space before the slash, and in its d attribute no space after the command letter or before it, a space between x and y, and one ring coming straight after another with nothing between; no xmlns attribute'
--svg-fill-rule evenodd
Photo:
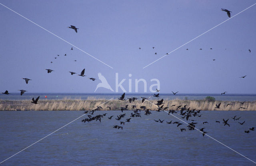
<svg viewBox="0 0 256 166"><path fill-rule="evenodd" d="M160 99L158 99L160 100ZM32 101L32 100L31 100ZM100 106L100 104L108 101L106 99L95 99L89 98L87 100L80 99L62 99L62 100L39 100L38 104L31 103L30 100L0 100L0 110L92 110L96 106ZM149 100L152 103L157 103L157 100ZM220 109L215 108L216 104L220 105ZM206 100L164 100L164 107L170 107L166 110L177 110L177 106L187 105L186 108L190 107L190 110L256 110L256 101L254 102L245 102L241 104L240 102L230 102L230 101L215 101L208 102ZM125 107L128 104L128 110L132 110L132 105L136 105L136 108L140 108L140 106L146 106L146 108L150 110L156 110L157 106L153 105L147 101L144 103L141 100L135 100L132 103L129 103L128 100L110 100L106 104L103 104L101 107L103 110L109 110L106 108L107 106L111 107L111 110L120 110L121 106ZM176 104L176 106L172 106ZM227 104L232 104L228 105ZM171 107L172 106L172 107ZM163 107L163 108L164 108ZM240 107L244 107L246 109L242 109Z"/></svg>

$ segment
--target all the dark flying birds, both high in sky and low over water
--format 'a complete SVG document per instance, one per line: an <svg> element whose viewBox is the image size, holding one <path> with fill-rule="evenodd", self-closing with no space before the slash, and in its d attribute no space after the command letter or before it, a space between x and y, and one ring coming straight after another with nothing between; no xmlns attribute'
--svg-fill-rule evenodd
<svg viewBox="0 0 256 166"><path fill-rule="evenodd" d="M221 10L227 12L228 17L230 17L230 12L231 12L231 11L229 11L229 10L227 10L227 9L221 9ZM79 28L76 28L76 26L72 26L72 25L71 25L70 27L68 27L68 28L74 29L76 33L77 33L77 30L79 29ZM152 47L152 48L154 49L155 47ZM141 49L141 48L139 48L139 49ZM210 49L212 50L212 48L210 48ZM73 48L71 48L70 50L73 50ZM187 48L186 50L188 50L188 48ZM200 48L200 50L202 50L202 48ZM250 49L249 49L248 51L251 52ZM157 54L157 53L155 52L154 54ZM166 53L166 54L168 54L168 53ZM60 56L60 55L57 55L57 56ZM64 56L67 56L67 54L65 54ZM55 57L55 59L56 59L56 58L57 58L57 57ZM213 59L213 60L215 60L215 59ZM74 60L74 61L76 61L76 60ZM50 63L53 63L53 62L50 62ZM47 73L51 73L51 72L54 71L54 70L51 70L51 69L45 69L45 70L47 70ZM78 76L86 76L86 75L84 75L84 72L85 72L85 69L83 69L82 72L81 72L80 74L78 74ZM70 72L70 74L73 75L73 74L76 74L76 72ZM242 76L242 77L240 77L240 78L245 78L245 77L246 77L246 76ZM29 78L22 78L22 79L25 80L26 84L28 84L28 81L30 80ZM88 78L88 79L90 79L90 80L92 80L92 81L96 80L95 78ZM26 92L26 90L20 90L20 95L24 94L24 92ZM160 92L160 90L156 89L156 92ZM175 95L175 94L177 94L178 92L173 92L173 91L172 91L172 93ZM227 92L225 91L225 92L221 93L221 95L223 95L223 94L225 94L225 93L227 93ZM6 90L5 92L2 92L1 94L9 94L9 93L8 93L8 90ZM118 100L126 100L126 99L124 99L124 95L125 95L125 93L122 94L122 96L121 96L120 98L118 98ZM159 93L158 93L158 94L154 94L154 95L152 95L152 96L158 98L158 97L159 97ZM150 96L150 97L152 97L152 96ZM32 98L32 103L38 104L39 97L40 97L40 96L38 96L36 99ZM145 100L149 99L150 97L148 97L148 98L141 97L141 98L142 98L142 103L143 103ZM130 103L131 103L131 102L134 102L134 101L137 100L137 99L138 99L138 98L135 98L135 97L128 98L128 100L129 100ZM241 102L241 104L244 104L244 102ZM164 106L164 100L163 100L163 99L157 101L157 103L156 103L155 105L158 107L158 109L156 110L156 112L166 111L166 110L169 108L168 106L167 106L167 107L163 107L163 106ZM161 105L162 105L162 106L161 106ZM219 109L219 108L220 108L220 105L221 105L221 103L216 104L216 107L215 107L215 108ZM228 105L230 105L230 104L227 104L226 107L227 107ZM123 112L124 110L128 110L128 106L129 106L129 105L126 105L125 107L121 107L120 110L121 110L122 112ZM192 117L194 117L194 118L195 118L195 117L200 118L200 117L202 116L202 114L200 114L200 111L201 111L201 110L196 110L196 109L190 110L190 108L186 108L186 105L184 105L184 106L182 106L182 105L176 106L176 105L174 104L174 105L172 105L172 106L170 106L170 107L173 107L174 109L168 110L168 115L169 115L169 114L174 114L174 113L178 113L178 112L179 112L179 113L180 113L179 115L181 116L181 118L186 119L187 121L188 121L188 120L192 121L192 122L187 123L187 124L188 124L188 126L186 126L187 128L180 128L180 131L181 131L181 132L182 132L182 131L187 131L187 130L195 130L195 125L198 124L198 122L196 122L196 120L192 120L191 118L192 118ZM107 108L109 108L109 109L111 110L110 107L107 107ZM176 109L175 109L175 108L176 108ZM240 108L246 109L246 108L244 108L244 107L240 107ZM239 109L240 109L240 108L239 108ZM97 106L97 108L94 109L94 110L84 112L85 114L87 114L87 113L90 112L91 115L88 115L88 118L83 119L82 122L86 123L86 122L91 122L91 121L93 121L93 120L96 120L96 121L101 122L101 118L103 118L104 116L106 116L107 113L102 114L102 115L99 114L99 115L97 115L97 116L92 116L96 110L100 110L100 109L102 110L102 107ZM146 106L140 106L140 108L136 108L136 105L132 105L132 109L133 109L133 112L134 112L134 113L131 113L131 115L130 115L131 118L141 117L141 113L140 113L141 111L144 111L144 115L146 115L146 116L149 116L150 114L152 114L152 113L150 112L150 109L147 109ZM167 112L167 111L166 111L166 112ZM124 122L124 121L121 121L122 118L124 118L125 116L126 116L126 114L120 114L120 115L118 115L115 119L118 120L118 121L120 122L120 124L114 125L113 128L123 129L124 124L125 124L126 122L130 122L130 120L131 120L131 118L126 118L125 122ZM113 116L110 116L110 117L108 117L108 119L111 120L112 117L113 117ZM241 118L241 117L236 118L236 116L232 117L232 119L233 119L234 121L239 120L240 118ZM224 126L227 125L227 126L230 127L230 124L228 124L228 120L229 120L229 118L226 119L226 120L223 118L223 120L222 120L223 122L222 122L222 123L224 124ZM163 123L163 122L164 122L164 120L160 120L160 119L154 120L154 121L155 121L155 122L159 122L159 123ZM220 121L218 121L218 120L216 120L215 122L216 122L216 123L220 123ZM167 122L167 121L166 121L166 123L167 123L167 124L175 124L175 125L177 125L177 127L180 126L180 125L183 125L182 122L178 122L178 121L177 121L177 122L172 122L172 120L171 120L170 122ZM245 123L245 121L244 121L244 122L238 122L238 123L239 123L240 125L243 125L243 124ZM203 125L204 125L204 124L208 124L208 122L203 122L202 124L203 124ZM122 126L122 125L123 125L123 126ZM203 135L203 136L207 133L206 131L204 131L204 129L205 129L205 128L200 128L200 132L202 132L202 135ZM245 133L250 133L250 130L251 130L251 131L254 131L254 129L255 129L255 128L252 127L252 128L249 128L249 130L245 130L244 132L245 132Z"/></svg>

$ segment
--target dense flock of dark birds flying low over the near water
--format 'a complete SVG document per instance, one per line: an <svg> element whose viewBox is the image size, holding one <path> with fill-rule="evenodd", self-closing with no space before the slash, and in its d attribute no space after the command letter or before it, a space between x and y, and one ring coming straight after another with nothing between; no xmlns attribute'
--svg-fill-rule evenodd
<svg viewBox="0 0 256 166"><path fill-rule="evenodd" d="M156 89L156 91L157 91L157 89ZM174 92L173 92L174 93ZM125 93L124 94L122 94L122 96L120 97L120 98L117 98L118 100L122 100L122 101L124 101L124 100L126 100L126 99L124 99L124 96L125 96ZM150 96L150 97L148 97L148 98L145 98L145 97L140 97L140 98L142 98L142 103L145 101L145 100L147 100L147 99L149 99L149 98L151 98L151 97L156 97L156 98L158 98L159 97L159 94L154 94L154 95L152 95L152 96ZM131 103L131 102L134 102L135 100L138 100L138 98L136 98L136 97L130 97L130 98L127 98L128 100L129 100L129 102ZM178 115L180 115L181 117L180 118L182 118L182 119L186 119L188 122L186 123L186 124L188 124L186 127L187 128L180 128L180 131L182 132L182 131L188 131L188 130L195 130L195 128L196 128L196 124L198 124L198 122L196 121L196 120L193 120L192 118L196 118L196 117L198 117L198 118L200 118L200 117L202 117L202 114L200 114L200 111L201 110L196 110L196 109L192 109L192 110L190 110L190 107L189 108L186 108L186 105L184 105L184 106L182 106L182 105L180 105L180 106L176 106L176 104L174 104L174 105L172 105L172 106L170 106L171 108L173 107L173 109L169 109L169 107L167 106L167 107L164 107L164 99L161 99L161 100L158 100L157 101L157 103L155 103L155 105L158 107L158 109L157 110L155 110L156 112L162 112L162 111L165 111L165 112L168 112L168 115L169 114L177 114L177 113L179 113ZM241 104L244 104L244 102L241 102ZM219 104L216 104L216 107L215 108L220 108L220 105L221 105L221 103L219 103ZM229 105L229 104L228 104ZM227 106L228 106L227 105ZM128 104L125 106L125 107L120 107L120 110L121 110L121 112L123 112L124 110L128 110ZM109 108L110 110L111 110L111 108L108 106L107 108ZM168 110L169 109L169 110ZM100 107L100 106L97 106L94 110L91 110L91 111L85 111L84 112L84 114L88 114L88 113L90 113L91 115L93 115L94 114L94 112L96 111L96 110L102 110L102 107ZM167 110L167 111L166 111ZM141 117L141 111L144 111L144 115L146 115L146 116L148 116L148 115L150 115L150 114L152 114L151 112L150 112L150 109L147 109L146 108L146 106L140 106L140 108L136 108L136 105L132 105L132 111L133 111L133 113L131 113L131 115L130 115L130 117L131 118L136 118L136 117ZM105 113L105 114L102 114L102 115L97 115L97 116L91 116L91 115L88 115L88 118L85 118L85 119L83 119L82 120L82 122L84 122L84 123L86 123L86 122L91 122L91 121L93 121L93 120L96 120L96 121L100 121L101 122L101 118L103 118L104 116L106 116L106 114L107 113ZM120 114L120 115L118 115L115 119L117 120L117 121L119 121L120 122L120 124L116 124L116 125L114 125L113 126L113 128L117 128L117 129L122 129L123 130L123 126L124 126L124 124L126 123L126 122L130 122L130 120L131 120L131 118L126 118L126 120L124 121L121 121L122 120L122 118L124 118L126 116L126 114ZM110 116L110 117L108 117L108 119L112 119L112 117L113 116ZM236 118L236 116L234 116L234 117L232 117L232 119L234 120L234 121L236 121L236 120L240 120L240 118L241 118L241 116L239 117L239 118ZM230 127L230 124L228 123L228 120L229 120L229 118L228 119L222 119L222 123L224 124L224 126L229 126ZM164 120L160 120L160 119L158 119L158 120L155 120L154 119L154 121L155 122L159 122L159 123L163 123L164 122ZM176 122L172 122L172 120L170 121L170 122L167 122L166 121L166 123L167 124L175 124L175 125L177 125L176 127L178 127L178 126L180 126L180 125L183 125L183 123L182 122L179 122L179 121L176 121ZM218 120L216 120L215 121L215 123L220 123L220 121L218 121ZM240 125L243 125L245 123L245 121L244 122L238 122L238 124L240 124ZM205 122L202 122L202 124L204 125L204 124L208 124L208 122L207 121L205 121ZM202 135L204 136L207 132L206 131L204 131L204 129L205 128L200 128L199 129L199 131L200 132L202 132ZM249 128L248 130L245 130L244 132L245 133L250 133L250 131L254 131L254 127L252 127L252 128Z"/></svg>

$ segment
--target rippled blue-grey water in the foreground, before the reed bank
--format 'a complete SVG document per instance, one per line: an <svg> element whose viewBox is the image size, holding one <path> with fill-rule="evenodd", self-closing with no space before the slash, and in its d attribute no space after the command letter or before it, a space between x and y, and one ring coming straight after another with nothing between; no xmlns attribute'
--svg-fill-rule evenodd
<svg viewBox="0 0 256 166"><path fill-rule="evenodd" d="M124 111L130 118L132 111ZM256 127L255 111L201 111L202 117L193 117L198 122L196 128L205 131L216 140L233 148L240 154L256 161L256 131L244 133ZM222 144L197 130L180 132L175 124L166 121L180 121L166 112L153 112L149 116L135 117L122 125L115 120L121 111L96 111L95 115L107 113L102 122L83 123L84 115L68 126L58 130L42 141L30 146L1 165L93 165L93 166L240 166L255 165ZM83 111L1 111L0 112L0 162L68 122L83 115ZM107 116L113 116L109 120ZM174 114L180 117L180 115ZM242 116L239 122L231 117ZM229 118L230 127L222 124ZM163 123L154 122L164 120ZM184 119L182 119L184 120ZM221 123L217 124L218 120ZM186 121L186 120L185 120ZM208 124L202 124L207 121ZM188 122L192 122L188 120Z"/></svg>

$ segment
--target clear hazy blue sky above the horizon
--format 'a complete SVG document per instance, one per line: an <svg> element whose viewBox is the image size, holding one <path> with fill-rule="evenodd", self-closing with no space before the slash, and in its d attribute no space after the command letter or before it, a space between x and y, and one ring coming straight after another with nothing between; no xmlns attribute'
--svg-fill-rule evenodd
<svg viewBox="0 0 256 166"><path fill-rule="evenodd" d="M31 93L90 93L101 82L100 72L114 91L118 73L118 83L126 79L122 86L127 92L128 79L132 92L135 79L146 80L147 92L150 85L156 84L150 80L158 79L163 93L256 94L256 5L238 14L255 4L255 0L0 0L0 3L113 68L0 5L1 92L23 89ZM232 11L231 16L238 15L143 69L227 20L227 13L221 8ZM79 28L78 33L67 28L70 25ZM84 68L86 77L69 73L80 74ZM54 72L48 74L45 69ZM26 84L22 78L31 81ZM101 92L112 91L96 90ZM119 88L118 92L122 90ZM138 92L144 92L142 82Z"/></svg>

